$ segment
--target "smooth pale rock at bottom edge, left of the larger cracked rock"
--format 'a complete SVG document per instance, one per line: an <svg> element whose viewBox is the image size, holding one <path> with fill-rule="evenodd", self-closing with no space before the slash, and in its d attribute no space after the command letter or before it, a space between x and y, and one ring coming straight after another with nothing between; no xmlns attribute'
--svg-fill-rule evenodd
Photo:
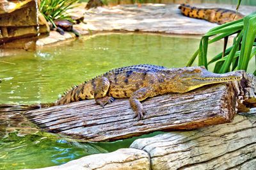
<svg viewBox="0 0 256 170"><path fill-rule="evenodd" d="M150 169L148 154L142 150L131 148L120 149L111 153L100 153L72 160L61 166L40 168L50 169Z"/></svg>

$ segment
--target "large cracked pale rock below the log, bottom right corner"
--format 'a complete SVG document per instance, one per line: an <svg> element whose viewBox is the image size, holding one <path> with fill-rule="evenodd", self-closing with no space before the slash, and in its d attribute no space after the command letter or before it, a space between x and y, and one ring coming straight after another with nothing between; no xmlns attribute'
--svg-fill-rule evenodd
<svg viewBox="0 0 256 170"><path fill-rule="evenodd" d="M232 123L137 139L152 169L256 169L256 109Z"/></svg>

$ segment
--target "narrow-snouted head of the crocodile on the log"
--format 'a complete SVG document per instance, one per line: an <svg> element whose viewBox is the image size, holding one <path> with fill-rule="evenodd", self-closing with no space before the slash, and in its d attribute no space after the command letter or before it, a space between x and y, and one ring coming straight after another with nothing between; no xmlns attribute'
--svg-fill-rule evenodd
<svg viewBox="0 0 256 170"><path fill-rule="evenodd" d="M184 67L176 76L176 80L180 84L180 91L177 92L184 93L207 84L238 81L241 78L242 75L237 72L212 73L206 70L204 66Z"/></svg>

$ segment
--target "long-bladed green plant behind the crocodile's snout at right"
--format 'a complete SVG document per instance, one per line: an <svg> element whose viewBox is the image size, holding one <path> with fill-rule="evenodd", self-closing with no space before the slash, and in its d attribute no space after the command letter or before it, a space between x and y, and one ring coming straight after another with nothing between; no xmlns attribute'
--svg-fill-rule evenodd
<svg viewBox="0 0 256 170"><path fill-rule="evenodd" d="M238 6L238 5L237 5ZM227 47L228 36L236 35L231 47ZM191 66L198 56L198 65L205 68L215 63L215 73L225 73L233 70L247 70L250 59L256 54L256 12L244 19L228 22L209 30L200 40L199 49L196 50L187 66ZM209 39L213 37L212 39ZM224 38L223 52L207 62L207 49L210 43ZM256 70L254 72L256 75Z"/></svg>

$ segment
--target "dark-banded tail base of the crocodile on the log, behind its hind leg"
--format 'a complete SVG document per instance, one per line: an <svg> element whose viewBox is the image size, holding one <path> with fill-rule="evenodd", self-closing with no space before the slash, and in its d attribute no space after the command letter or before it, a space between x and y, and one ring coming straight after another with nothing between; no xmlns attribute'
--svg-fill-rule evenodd
<svg viewBox="0 0 256 170"><path fill-rule="evenodd" d="M55 105L68 104L93 98L92 83L84 82L78 86L72 87L69 91L55 102Z"/></svg>

